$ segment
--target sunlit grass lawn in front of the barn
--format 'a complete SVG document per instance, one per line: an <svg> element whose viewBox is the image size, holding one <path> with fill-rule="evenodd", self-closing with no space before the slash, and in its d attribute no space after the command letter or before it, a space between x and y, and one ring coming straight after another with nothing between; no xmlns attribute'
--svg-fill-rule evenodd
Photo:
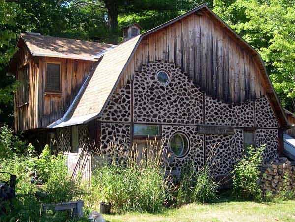
<svg viewBox="0 0 295 222"><path fill-rule="evenodd" d="M103 215L111 222L295 222L295 200L281 203L188 204L160 214Z"/></svg>

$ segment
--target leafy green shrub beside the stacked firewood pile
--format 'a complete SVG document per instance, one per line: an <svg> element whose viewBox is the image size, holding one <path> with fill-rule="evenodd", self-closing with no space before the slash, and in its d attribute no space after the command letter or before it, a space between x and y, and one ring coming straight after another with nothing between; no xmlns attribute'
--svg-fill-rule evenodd
<svg viewBox="0 0 295 222"><path fill-rule="evenodd" d="M233 170L233 195L237 199L262 200L262 190L258 184L259 165L265 145L249 147L249 152L235 166Z"/></svg>

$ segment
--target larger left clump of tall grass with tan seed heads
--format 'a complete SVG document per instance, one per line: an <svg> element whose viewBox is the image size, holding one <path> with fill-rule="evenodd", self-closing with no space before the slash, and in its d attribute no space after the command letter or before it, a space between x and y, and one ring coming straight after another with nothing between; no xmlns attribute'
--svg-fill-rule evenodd
<svg viewBox="0 0 295 222"><path fill-rule="evenodd" d="M92 176L92 188L100 193L100 200L112 204L118 213L159 212L168 198L170 185L164 168L170 153L156 140L147 140L146 147L149 149L142 154L136 146L126 149L116 143L109 144L104 151L97 150L106 164Z"/></svg>

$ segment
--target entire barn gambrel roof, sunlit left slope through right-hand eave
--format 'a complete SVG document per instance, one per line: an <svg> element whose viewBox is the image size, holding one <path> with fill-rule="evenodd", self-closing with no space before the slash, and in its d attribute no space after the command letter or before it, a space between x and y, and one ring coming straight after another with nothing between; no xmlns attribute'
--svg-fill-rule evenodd
<svg viewBox="0 0 295 222"><path fill-rule="evenodd" d="M177 21L192 15L193 13L206 13L210 18L214 19L220 27L226 30L227 34L239 43L241 48L247 49L251 54L253 60L258 64L261 76L260 79L263 81L263 88L266 92L267 97L272 105L276 117L278 118L282 127L288 127L284 111L280 105L280 101L273 89L272 83L266 72L266 67L262 61L259 53L246 43L236 32L234 32L227 24L225 24L215 13L213 13L205 4L194 8L193 10L178 16L175 19L168 21L148 32L143 33L129 41L126 41L109 52L103 55L102 60L96 66L92 75L89 77L89 82L84 90L77 95L75 104L72 104L70 111L64 116L62 123L56 122L51 124L49 127L62 127L75 124L87 123L88 121L99 117L113 92L117 89L118 84L124 74L124 71L130 62L134 53L146 36L151 33L157 32ZM78 99L79 98L79 99ZM76 120L76 121L74 121Z"/></svg>

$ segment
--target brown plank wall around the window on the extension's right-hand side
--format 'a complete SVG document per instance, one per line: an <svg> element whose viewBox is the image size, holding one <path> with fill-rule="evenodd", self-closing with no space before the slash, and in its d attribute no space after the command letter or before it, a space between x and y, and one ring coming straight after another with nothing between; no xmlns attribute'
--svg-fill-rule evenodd
<svg viewBox="0 0 295 222"><path fill-rule="evenodd" d="M45 91L46 63L59 62L61 64L62 92L48 93ZM38 110L41 113L39 126L46 127L56 121L66 112L71 102L77 95L81 85L89 74L93 62L42 57L39 58L40 85Z"/></svg>

